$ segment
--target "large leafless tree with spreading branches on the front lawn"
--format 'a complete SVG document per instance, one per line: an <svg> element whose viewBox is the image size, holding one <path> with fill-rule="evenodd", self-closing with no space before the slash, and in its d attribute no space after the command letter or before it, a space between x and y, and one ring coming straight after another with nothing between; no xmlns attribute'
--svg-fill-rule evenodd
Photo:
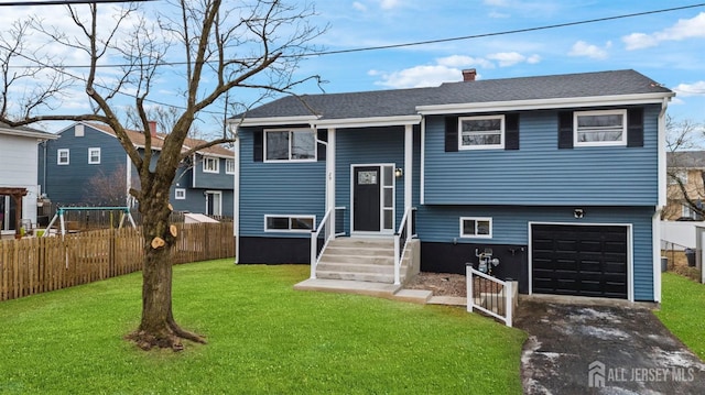
<svg viewBox="0 0 705 395"><path fill-rule="evenodd" d="M308 6L288 6L280 0L174 0L160 3L154 18L140 12L137 3L127 3L111 19L99 14L99 8L113 4L67 6L68 18L77 34L53 28L45 21L33 22L37 32L66 50L83 54L89 67L82 73L64 74L80 84L93 106L83 114L41 113L48 99L40 96L20 119L0 117L12 125L37 121L97 121L115 131L140 178L140 188L130 194L139 201L144 238L142 319L128 338L143 349L153 347L181 350L182 339L205 342L203 336L181 328L172 310L171 248L177 238L171 226L170 186L180 163L208 146L234 141L226 135L189 150L182 150L196 118L236 88L261 92L291 92L296 85L317 77L294 78L297 62L313 48L311 40L322 33L308 21L315 14ZM102 9L101 9L102 10ZM111 22L111 23L109 23ZM122 58L120 73L104 72L105 63ZM174 62L174 54L178 61ZM31 56L31 54L24 54ZM34 59L37 65L61 70L48 61ZM148 105L163 74L178 69L180 113L158 154L149 133ZM115 72L115 69L112 69ZM64 72L66 73L66 72ZM173 86L170 86L173 88ZM9 94L6 89L6 95ZM132 107L144 131L144 149L139 151L126 124L119 120L121 95L133 95ZM6 96L7 97L7 96ZM221 112L221 110L220 110ZM159 155L159 157L154 156ZM150 163L155 158L155 166Z"/></svg>

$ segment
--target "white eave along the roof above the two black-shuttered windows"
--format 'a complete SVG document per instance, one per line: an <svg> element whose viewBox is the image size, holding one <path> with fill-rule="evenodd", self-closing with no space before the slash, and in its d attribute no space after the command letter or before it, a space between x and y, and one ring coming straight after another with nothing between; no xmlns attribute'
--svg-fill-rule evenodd
<svg viewBox="0 0 705 395"><path fill-rule="evenodd" d="M574 98L531 99L511 101L466 102L453 105L417 106L416 111L423 116L446 113L470 113L487 111L547 110L575 107L660 105L663 99L671 99L674 92L590 96Z"/></svg>

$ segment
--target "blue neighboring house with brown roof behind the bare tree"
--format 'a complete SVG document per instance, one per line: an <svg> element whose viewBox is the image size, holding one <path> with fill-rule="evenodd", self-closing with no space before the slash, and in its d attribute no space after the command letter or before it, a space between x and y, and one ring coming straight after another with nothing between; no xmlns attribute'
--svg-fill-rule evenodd
<svg viewBox="0 0 705 395"><path fill-rule="evenodd" d="M155 162L164 134L156 133L155 122L150 127ZM77 122L56 134L59 139L40 144L39 184L47 198L63 206L132 204L128 186L139 187L139 175L112 129ZM134 146L144 149L142 132L128 134ZM200 143L186 139L184 149ZM170 201L174 210L232 217L234 168L234 152L223 146L193 155L180 167L172 185ZM96 190L90 183L95 177L111 178L110 190Z"/></svg>

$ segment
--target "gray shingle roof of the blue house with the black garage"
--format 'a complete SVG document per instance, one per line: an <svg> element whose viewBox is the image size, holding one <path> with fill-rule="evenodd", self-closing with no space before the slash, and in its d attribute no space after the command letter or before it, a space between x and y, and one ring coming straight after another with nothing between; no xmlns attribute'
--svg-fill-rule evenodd
<svg viewBox="0 0 705 395"><path fill-rule="evenodd" d="M251 109L246 117L285 118L312 114L321 116L321 119L394 117L416 114L416 106L659 92L669 94L671 90L629 69L447 83L433 88L289 96Z"/></svg>

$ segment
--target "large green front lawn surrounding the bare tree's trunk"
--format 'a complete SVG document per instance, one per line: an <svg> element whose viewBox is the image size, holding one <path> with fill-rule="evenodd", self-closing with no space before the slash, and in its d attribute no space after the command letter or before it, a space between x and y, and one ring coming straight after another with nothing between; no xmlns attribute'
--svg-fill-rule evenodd
<svg viewBox="0 0 705 395"><path fill-rule="evenodd" d="M174 268L174 315L207 336L145 353L141 275L0 304L0 393L520 394L525 334L462 308L294 292L307 266Z"/></svg>

